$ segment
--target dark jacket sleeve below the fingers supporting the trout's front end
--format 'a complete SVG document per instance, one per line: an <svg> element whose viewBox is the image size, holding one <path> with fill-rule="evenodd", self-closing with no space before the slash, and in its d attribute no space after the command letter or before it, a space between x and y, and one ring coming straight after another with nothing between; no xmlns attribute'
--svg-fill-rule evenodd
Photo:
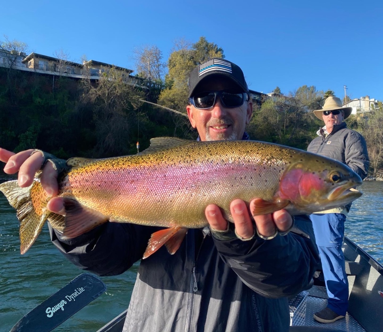
<svg viewBox="0 0 383 332"><path fill-rule="evenodd" d="M291 296L308 289L319 265L313 226L306 215L295 216L295 227L272 240L255 236L214 243L223 261L256 293L271 298Z"/></svg>

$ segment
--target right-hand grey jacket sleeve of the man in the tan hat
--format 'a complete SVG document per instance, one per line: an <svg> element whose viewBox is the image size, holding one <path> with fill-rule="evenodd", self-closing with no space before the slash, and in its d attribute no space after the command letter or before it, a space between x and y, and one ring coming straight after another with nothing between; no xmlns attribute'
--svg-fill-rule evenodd
<svg viewBox="0 0 383 332"><path fill-rule="evenodd" d="M345 138L345 163L354 172L356 172L362 180L367 176L368 159L367 144L362 135L356 131L351 131Z"/></svg>

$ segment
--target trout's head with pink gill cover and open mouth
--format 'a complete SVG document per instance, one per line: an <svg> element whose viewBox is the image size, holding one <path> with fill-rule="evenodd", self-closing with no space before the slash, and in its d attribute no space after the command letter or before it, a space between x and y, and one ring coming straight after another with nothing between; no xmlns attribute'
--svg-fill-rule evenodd
<svg viewBox="0 0 383 332"><path fill-rule="evenodd" d="M347 165L322 156L309 157L292 163L280 179L278 196L290 201L289 211L311 214L345 206L362 196L354 189L362 179Z"/></svg>

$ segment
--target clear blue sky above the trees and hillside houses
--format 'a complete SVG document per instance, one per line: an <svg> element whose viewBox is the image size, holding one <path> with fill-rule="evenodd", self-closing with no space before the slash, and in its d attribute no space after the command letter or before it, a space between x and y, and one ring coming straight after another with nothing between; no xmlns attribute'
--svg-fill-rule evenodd
<svg viewBox="0 0 383 332"><path fill-rule="evenodd" d="M29 52L134 69L133 49L156 45L167 61L173 43L201 36L241 66L250 89L283 93L302 85L352 99L383 100L383 2L4 1L0 39Z"/></svg>

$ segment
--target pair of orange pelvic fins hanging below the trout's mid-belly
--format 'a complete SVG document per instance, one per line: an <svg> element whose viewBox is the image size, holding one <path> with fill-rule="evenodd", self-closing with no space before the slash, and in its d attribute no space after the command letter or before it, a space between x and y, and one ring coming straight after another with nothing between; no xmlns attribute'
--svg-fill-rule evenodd
<svg viewBox="0 0 383 332"><path fill-rule="evenodd" d="M148 258L152 253L155 253L163 245L167 248L170 255L173 255L180 247L183 238L188 232L188 228L173 226L154 232L149 239L146 250L142 259Z"/></svg>

